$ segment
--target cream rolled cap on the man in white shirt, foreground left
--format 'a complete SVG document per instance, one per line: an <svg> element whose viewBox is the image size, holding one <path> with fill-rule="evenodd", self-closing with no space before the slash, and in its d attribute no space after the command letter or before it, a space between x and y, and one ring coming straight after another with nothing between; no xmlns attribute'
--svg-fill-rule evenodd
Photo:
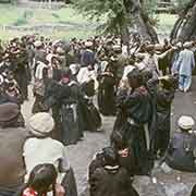
<svg viewBox="0 0 196 196"><path fill-rule="evenodd" d="M35 136L48 136L54 127L54 121L49 113L39 112L29 119L27 127Z"/></svg>

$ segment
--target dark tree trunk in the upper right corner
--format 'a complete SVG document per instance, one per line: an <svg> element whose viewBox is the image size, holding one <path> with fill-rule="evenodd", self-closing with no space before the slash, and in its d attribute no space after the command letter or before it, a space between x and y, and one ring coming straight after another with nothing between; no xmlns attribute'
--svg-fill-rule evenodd
<svg viewBox="0 0 196 196"><path fill-rule="evenodd" d="M171 32L171 40L186 41L196 38L196 2L192 0L183 12L180 14L179 20L175 22Z"/></svg>

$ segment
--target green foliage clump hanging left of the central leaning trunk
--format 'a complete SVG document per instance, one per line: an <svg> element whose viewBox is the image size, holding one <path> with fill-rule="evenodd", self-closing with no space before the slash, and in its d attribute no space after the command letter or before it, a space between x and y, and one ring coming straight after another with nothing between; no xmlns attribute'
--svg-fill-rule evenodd
<svg viewBox="0 0 196 196"><path fill-rule="evenodd" d="M132 22L124 0L74 0L76 9L90 20L101 21L99 26L105 34L121 34Z"/></svg>

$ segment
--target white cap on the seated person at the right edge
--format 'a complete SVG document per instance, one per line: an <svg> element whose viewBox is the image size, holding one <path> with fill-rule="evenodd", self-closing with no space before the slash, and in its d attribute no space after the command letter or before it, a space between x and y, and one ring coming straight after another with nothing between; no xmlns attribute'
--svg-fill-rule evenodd
<svg viewBox="0 0 196 196"><path fill-rule="evenodd" d="M189 115L182 115L179 119L177 125L182 128L182 130L192 130L192 127L195 125L195 121L192 117Z"/></svg>

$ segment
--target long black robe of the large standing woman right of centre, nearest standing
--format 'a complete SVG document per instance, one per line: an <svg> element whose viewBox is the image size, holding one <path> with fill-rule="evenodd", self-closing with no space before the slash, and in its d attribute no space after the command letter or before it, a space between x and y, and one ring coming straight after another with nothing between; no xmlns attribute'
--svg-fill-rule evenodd
<svg viewBox="0 0 196 196"><path fill-rule="evenodd" d="M119 114L119 117L123 118L123 124L120 122L115 123L114 132L121 132L122 139L127 144L128 149L132 150L131 154L134 155L137 167L135 173L149 174L152 168L152 159L147 148L145 126L149 126L152 117L150 95L142 86L132 90L130 95L120 94L117 102L120 111L123 113Z"/></svg>

